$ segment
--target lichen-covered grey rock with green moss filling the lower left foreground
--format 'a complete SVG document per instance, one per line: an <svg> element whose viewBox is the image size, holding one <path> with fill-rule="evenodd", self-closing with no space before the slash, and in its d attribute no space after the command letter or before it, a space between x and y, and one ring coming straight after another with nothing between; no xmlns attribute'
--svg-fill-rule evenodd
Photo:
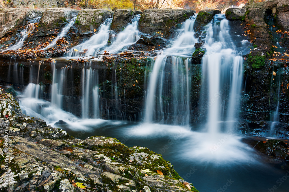
<svg viewBox="0 0 289 192"><path fill-rule="evenodd" d="M14 97L1 91L0 111L0 191L197 191L148 148L109 137L76 139L24 115Z"/></svg>

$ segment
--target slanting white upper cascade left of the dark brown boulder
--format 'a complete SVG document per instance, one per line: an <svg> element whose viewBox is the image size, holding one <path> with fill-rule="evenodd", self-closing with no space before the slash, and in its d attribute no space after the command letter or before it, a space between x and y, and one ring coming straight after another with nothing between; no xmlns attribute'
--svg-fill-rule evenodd
<svg viewBox="0 0 289 192"><path fill-rule="evenodd" d="M106 20L103 24L100 25L100 29L95 35L91 36L86 42L73 47L68 53L66 53L65 56L80 57L81 55L79 55L78 51L83 51L84 49L88 49L86 55L97 54L101 50L101 48L105 47L108 42L111 23L112 18L108 18L108 20ZM75 49L77 51L75 51Z"/></svg>

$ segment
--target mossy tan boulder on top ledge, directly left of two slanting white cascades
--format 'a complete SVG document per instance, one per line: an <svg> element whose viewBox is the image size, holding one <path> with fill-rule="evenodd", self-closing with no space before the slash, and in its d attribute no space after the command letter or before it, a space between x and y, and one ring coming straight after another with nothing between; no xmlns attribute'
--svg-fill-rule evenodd
<svg viewBox="0 0 289 192"><path fill-rule="evenodd" d="M80 31L97 29L105 20L112 18L113 12L102 9L82 9L77 15L75 26Z"/></svg>

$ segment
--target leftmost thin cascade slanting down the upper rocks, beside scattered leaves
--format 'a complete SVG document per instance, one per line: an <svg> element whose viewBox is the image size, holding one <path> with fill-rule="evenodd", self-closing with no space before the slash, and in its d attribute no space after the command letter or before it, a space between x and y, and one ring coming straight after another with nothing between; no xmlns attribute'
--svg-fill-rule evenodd
<svg viewBox="0 0 289 192"><path fill-rule="evenodd" d="M3 49L1 52L3 51L9 51L9 50L16 50L19 49L23 46L25 39L31 34L33 33L34 29L35 29L35 24L37 24L39 22L41 17L37 17L36 19L34 19L32 21L32 23L29 23L25 29L23 29L20 34L20 39L18 40L18 42L15 45L12 45L6 49Z"/></svg>

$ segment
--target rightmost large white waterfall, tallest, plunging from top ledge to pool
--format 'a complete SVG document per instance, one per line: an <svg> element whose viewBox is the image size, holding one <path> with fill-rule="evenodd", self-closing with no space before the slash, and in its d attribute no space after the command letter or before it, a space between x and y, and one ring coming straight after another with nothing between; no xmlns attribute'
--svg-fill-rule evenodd
<svg viewBox="0 0 289 192"><path fill-rule="evenodd" d="M202 60L205 88L201 99L202 106L207 107L206 129L214 135L220 131L232 132L237 122L243 58L231 39L225 15L215 16L206 30L207 52Z"/></svg>

